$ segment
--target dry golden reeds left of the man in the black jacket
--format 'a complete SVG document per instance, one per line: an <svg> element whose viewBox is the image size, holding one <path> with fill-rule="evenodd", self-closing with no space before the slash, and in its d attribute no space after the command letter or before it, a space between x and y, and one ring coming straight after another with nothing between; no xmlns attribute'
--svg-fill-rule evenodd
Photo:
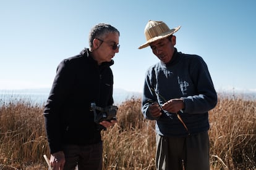
<svg viewBox="0 0 256 170"><path fill-rule="evenodd" d="M43 107L29 100L13 100L0 105L0 169L43 163L49 153L42 115Z"/></svg>

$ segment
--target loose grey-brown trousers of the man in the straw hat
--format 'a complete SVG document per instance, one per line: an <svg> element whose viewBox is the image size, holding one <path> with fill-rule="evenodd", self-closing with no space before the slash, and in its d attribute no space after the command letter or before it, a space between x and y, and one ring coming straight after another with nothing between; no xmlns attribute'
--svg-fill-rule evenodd
<svg viewBox="0 0 256 170"><path fill-rule="evenodd" d="M209 150L208 132L187 137L164 137L156 134L156 168L208 170Z"/></svg>

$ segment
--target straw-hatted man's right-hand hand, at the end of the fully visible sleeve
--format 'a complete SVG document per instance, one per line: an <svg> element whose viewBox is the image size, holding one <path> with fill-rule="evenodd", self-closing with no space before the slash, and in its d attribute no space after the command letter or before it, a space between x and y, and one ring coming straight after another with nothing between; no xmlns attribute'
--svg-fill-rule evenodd
<svg viewBox="0 0 256 170"><path fill-rule="evenodd" d="M182 99L171 99L163 103L162 108L170 113L177 113L184 109L185 105Z"/></svg>

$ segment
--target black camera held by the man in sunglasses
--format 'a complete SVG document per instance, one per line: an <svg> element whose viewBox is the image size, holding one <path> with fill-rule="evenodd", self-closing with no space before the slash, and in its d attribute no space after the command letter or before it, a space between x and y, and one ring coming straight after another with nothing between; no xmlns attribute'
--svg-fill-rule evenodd
<svg viewBox="0 0 256 170"><path fill-rule="evenodd" d="M95 103L91 103L91 110L94 113L94 122L100 123L101 121L111 121L116 119L117 106L111 105L105 108L96 106Z"/></svg>

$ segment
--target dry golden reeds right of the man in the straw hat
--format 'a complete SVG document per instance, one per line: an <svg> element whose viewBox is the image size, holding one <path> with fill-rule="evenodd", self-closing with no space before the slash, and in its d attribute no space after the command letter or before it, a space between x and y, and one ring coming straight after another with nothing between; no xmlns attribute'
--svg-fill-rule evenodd
<svg viewBox="0 0 256 170"><path fill-rule="evenodd" d="M219 96L210 122L212 167L256 169L256 101Z"/></svg>

